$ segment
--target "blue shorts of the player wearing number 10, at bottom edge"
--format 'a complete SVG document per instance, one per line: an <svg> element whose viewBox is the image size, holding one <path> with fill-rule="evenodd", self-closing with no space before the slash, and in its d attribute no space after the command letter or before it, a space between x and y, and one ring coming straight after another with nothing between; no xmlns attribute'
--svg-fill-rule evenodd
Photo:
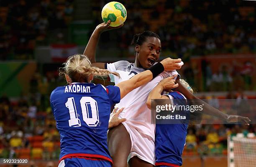
<svg viewBox="0 0 256 167"><path fill-rule="evenodd" d="M58 167L112 167L112 164L105 160L67 158L61 160Z"/></svg>

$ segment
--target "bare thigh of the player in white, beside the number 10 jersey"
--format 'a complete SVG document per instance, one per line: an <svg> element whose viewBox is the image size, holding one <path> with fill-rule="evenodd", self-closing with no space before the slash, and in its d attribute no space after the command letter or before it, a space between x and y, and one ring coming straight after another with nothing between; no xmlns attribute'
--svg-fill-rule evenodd
<svg viewBox="0 0 256 167"><path fill-rule="evenodd" d="M131 152L131 138L123 124L109 130L108 149L113 159L113 167L127 167L127 158Z"/></svg>

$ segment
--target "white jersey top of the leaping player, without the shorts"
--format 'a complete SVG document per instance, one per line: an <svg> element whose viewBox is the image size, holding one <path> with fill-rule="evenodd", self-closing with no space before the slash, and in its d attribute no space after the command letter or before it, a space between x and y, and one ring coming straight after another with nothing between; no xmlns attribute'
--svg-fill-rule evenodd
<svg viewBox="0 0 256 167"><path fill-rule="evenodd" d="M108 63L107 69L120 74L121 78L110 74L110 79L115 84L128 80L137 73L145 71L144 68L137 68L133 63L129 63L128 61ZM126 118L125 122L129 122L141 134L150 136L153 141L155 139L155 125L151 123L151 110L146 105L148 94L162 79L173 76L174 74L178 74L177 71L162 72L150 82L131 91L121 99L120 103L116 104L118 108L125 107L120 114L120 118Z"/></svg>

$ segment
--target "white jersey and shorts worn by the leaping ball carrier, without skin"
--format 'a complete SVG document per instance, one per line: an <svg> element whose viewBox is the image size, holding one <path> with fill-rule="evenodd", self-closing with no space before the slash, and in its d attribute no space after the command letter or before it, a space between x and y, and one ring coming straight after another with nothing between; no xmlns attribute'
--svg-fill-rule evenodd
<svg viewBox="0 0 256 167"><path fill-rule="evenodd" d="M108 70L116 71L120 74L121 79L115 76L111 78L115 84L133 77L135 73L144 71L143 68L137 68L133 63L129 63L128 61L118 61L107 64L106 66ZM131 138L129 159L137 156L150 164L155 163L154 153L152 154L154 152L155 126L151 123L151 111L146 106L147 96L162 79L173 75L176 77L177 74L177 71L163 72L147 84L131 91L124 100L116 104L118 108L124 107L123 112L120 113L120 117L126 118L123 126ZM112 131L110 131L111 133ZM111 139L110 135L109 139Z"/></svg>

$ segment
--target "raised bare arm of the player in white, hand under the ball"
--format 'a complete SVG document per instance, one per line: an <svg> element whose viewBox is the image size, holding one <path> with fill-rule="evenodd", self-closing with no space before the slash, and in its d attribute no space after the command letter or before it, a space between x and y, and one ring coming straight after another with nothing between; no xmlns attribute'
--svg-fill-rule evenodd
<svg viewBox="0 0 256 167"><path fill-rule="evenodd" d="M86 55L90 59L92 66L96 66L102 69L105 68L105 63L96 63L96 59L95 59L96 48L100 40L100 34L103 33L104 31L118 29L123 26L123 25L120 25L118 27L110 27L109 25L110 25L110 20L108 20L107 23L101 23L95 28L83 53L83 55Z"/></svg>

